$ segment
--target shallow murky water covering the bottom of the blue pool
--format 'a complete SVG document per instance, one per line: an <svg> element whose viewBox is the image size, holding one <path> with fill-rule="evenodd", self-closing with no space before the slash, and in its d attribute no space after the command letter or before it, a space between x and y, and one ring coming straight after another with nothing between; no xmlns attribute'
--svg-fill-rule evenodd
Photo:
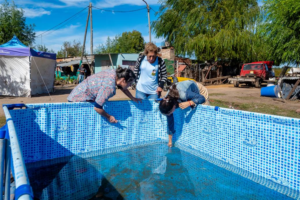
<svg viewBox="0 0 300 200"><path fill-rule="evenodd" d="M292 199L166 143L26 168L37 199Z"/></svg>

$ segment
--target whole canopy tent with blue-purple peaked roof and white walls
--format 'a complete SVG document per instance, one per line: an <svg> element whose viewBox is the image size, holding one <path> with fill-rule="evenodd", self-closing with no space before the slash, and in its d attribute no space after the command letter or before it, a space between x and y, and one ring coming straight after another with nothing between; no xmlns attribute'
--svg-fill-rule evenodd
<svg viewBox="0 0 300 200"><path fill-rule="evenodd" d="M56 54L37 51L16 36L0 45L0 95L26 96L54 92Z"/></svg>

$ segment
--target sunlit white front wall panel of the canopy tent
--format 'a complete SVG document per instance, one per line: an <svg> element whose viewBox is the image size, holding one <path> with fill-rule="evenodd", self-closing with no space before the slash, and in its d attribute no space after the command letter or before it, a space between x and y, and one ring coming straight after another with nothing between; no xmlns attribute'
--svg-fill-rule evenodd
<svg viewBox="0 0 300 200"><path fill-rule="evenodd" d="M0 56L0 95L30 96L29 56Z"/></svg>

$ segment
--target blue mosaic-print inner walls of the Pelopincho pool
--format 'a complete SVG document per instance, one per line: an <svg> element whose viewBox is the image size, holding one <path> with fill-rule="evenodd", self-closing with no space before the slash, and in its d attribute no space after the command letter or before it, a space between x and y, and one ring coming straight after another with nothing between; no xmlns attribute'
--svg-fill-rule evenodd
<svg viewBox="0 0 300 200"><path fill-rule="evenodd" d="M89 103L31 104L10 111L25 162L167 139L158 104L108 102L107 123ZM299 191L300 119L198 106L174 113L177 144Z"/></svg>

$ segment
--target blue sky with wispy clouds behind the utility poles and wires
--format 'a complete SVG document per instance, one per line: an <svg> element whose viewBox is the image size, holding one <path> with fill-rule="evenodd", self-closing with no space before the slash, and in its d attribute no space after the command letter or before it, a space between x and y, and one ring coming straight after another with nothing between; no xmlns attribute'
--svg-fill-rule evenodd
<svg viewBox="0 0 300 200"><path fill-rule="evenodd" d="M10 1L9 1L10 2ZM146 4L142 0L48 0L48 1L32 1L32 0L15 0L18 8L24 10L26 23L36 25L36 35L51 29L72 15L81 11L83 8L92 3L92 6L113 11L130 11L145 8ZM149 6L158 11L160 4L158 0L146 0ZM42 38L36 38L36 44L46 45L48 49L53 49L55 53L61 49L64 41L80 40L83 42L85 23L88 14L88 8L82 11L70 23L62 26L60 29L49 35L45 33ZM150 10L150 20L156 20L154 11ZM148 14L147 9L135 12L119 13L101 11L92 8L93 18L93 46L94 49L98 44L106 41L107 36L114 37L125 31L137 30L142 33L144 40L149 42ZM58 26L59 27L59 26ZM56 28L58 28L56 27ZM55 29L56 29L55 28ZM155 38L152 32L152 41L161 46L163 38ZM86 36L86 50L90 52L90 27Z"/></svg>

